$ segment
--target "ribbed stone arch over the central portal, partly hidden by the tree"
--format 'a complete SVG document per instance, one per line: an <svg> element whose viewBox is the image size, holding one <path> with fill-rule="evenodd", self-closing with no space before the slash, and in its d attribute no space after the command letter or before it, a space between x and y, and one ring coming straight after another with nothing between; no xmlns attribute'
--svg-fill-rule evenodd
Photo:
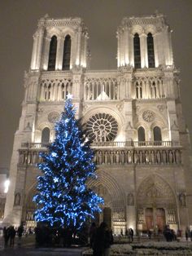
<svg viewBox="0 0 192 256"><path fill-rule="evenodd" d="M98 179L91 179L88 182L89 188L95 189L96 192L97 188L105 188L106 194L101 196L107 197L106 203L104 202L104 207L111 207L113 209L122 208L125 205L125 194L120 185L116 182L115 179L111 177L111 175L107 174L105 171L98 172ZM105 200L105 198L104 198Z"/></svg>

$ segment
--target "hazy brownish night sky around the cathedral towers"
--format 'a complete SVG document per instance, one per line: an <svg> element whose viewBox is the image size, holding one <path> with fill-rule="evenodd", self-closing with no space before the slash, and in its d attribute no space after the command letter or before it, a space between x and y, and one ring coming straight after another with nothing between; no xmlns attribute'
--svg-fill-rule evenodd
<svg viewBox="0 0 192 256"><path fill-rule="evenodd" d="M24 70L28 70L37 20L80 16L89 29L92 69L116 68L116 29L124 16L168 18L173 56L181 69L181 101L192 134L192 0L1 0L0 1L0 168L9 168L15 130L24 98Z"/></svg>

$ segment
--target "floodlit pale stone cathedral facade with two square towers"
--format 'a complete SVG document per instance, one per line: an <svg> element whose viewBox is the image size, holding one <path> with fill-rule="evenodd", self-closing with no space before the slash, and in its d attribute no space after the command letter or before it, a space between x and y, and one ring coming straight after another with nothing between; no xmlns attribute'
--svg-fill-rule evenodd
<svg viewBox="0 0 192 256"><path fill-rule="evenodd" d="M105 221L116 234L185 230L192 224L190 141L181 112L178 70L164 15L124 18L117 29L116 70L90 70L88 31L80 18L39 20L24 75L4 223L35 226L39 152L55 138L55 121L73 95L76 118L93 140Z"/></svg>

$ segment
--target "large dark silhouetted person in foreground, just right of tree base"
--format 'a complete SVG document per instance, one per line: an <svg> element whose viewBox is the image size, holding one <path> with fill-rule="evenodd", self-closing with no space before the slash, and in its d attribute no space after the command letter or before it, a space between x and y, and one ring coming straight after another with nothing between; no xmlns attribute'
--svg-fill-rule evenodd
<svg viewBox="0 0 192 256"><path fill-rule="evenodd" d="M108 256L112 243L111 232L107 227L107 223L101 223L97 228L94 237L94 256Z"/></svg>

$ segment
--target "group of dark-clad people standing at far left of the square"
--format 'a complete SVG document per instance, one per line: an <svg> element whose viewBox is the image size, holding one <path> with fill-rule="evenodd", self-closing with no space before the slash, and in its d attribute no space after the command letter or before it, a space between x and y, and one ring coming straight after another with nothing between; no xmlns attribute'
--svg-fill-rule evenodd
<svg viewBox="0 0 192 256"><path fill-rule="evenodd" d="M7 247L10 245L13 247L15 245L15 236L18 235L18 245L20 245L21 237L24 232L24 227L20 225L17 229L15 227L3 227L3 237L4 237L4 246Z"/></svg>

